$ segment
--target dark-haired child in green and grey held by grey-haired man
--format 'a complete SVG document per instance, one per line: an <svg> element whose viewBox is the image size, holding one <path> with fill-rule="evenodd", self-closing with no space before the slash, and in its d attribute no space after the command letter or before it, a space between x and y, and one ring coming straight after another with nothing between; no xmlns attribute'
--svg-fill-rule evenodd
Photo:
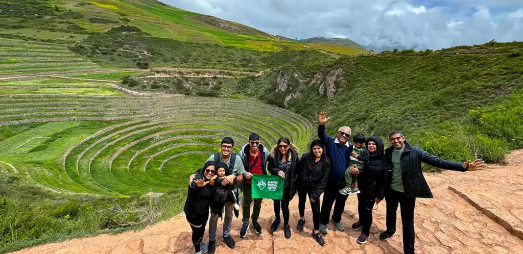
<svg viewBox="0 0 523 254"><path fill-rule="evenodd" d="M347 153L350 153L349 156L349 168L353 165L356 165L358 170L361 172L363 168L363 163L369 161L369 151L365 147L365 135L358 133L353 138L354 144L349 147ZM346 187L339 190L339 193L344 195L348 194L358 194L360 193L358 189L358 180L356 175L350 174L350 170L347 168L345 171L345 185Z"/></svg>

